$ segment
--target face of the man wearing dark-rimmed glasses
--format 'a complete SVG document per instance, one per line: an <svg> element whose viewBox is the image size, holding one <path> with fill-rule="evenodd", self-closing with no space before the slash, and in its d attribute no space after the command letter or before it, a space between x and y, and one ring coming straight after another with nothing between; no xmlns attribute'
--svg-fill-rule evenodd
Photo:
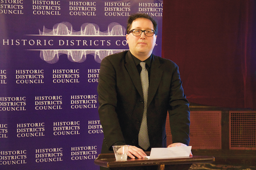
<svg viewBox="0 0 256 170"><path fill-rule="evenodd" d="M146 18L137 18L131 24L131 30L132 29L154 30L154 26L151 20ZM140 36L134 36L132 33L130 33L126 34L126 40L128 42L131 54L139 59L145 60L151 55L154 49L157 36L154 34L152 37L147 37L144 32Z"/></svg>

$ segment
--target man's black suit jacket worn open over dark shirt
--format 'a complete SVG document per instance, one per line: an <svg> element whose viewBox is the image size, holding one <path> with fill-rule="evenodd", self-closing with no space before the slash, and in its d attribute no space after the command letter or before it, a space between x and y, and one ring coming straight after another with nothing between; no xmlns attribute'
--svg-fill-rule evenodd
<svg viewBox="0 0 256 170"><path fill-rule="evenodd" d="M139 147L143 90L130 51L102 59L98 94L104 131L102 153L108 153L118 141ZM169 59L152 55L147 107L150 147L166 147L167 111L172 141L189 144L189 102L183 93L178 66Z"/></svg>

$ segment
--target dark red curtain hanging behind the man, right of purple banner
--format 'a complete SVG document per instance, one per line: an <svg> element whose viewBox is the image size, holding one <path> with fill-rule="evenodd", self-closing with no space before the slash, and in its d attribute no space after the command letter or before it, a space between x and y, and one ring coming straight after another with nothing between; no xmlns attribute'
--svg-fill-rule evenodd
<svg viewBox="0 0 256 170"><path fill-rule="evenodd" d="M256 109L253 0L163 0L162 57L189 102Z"/></svg>

